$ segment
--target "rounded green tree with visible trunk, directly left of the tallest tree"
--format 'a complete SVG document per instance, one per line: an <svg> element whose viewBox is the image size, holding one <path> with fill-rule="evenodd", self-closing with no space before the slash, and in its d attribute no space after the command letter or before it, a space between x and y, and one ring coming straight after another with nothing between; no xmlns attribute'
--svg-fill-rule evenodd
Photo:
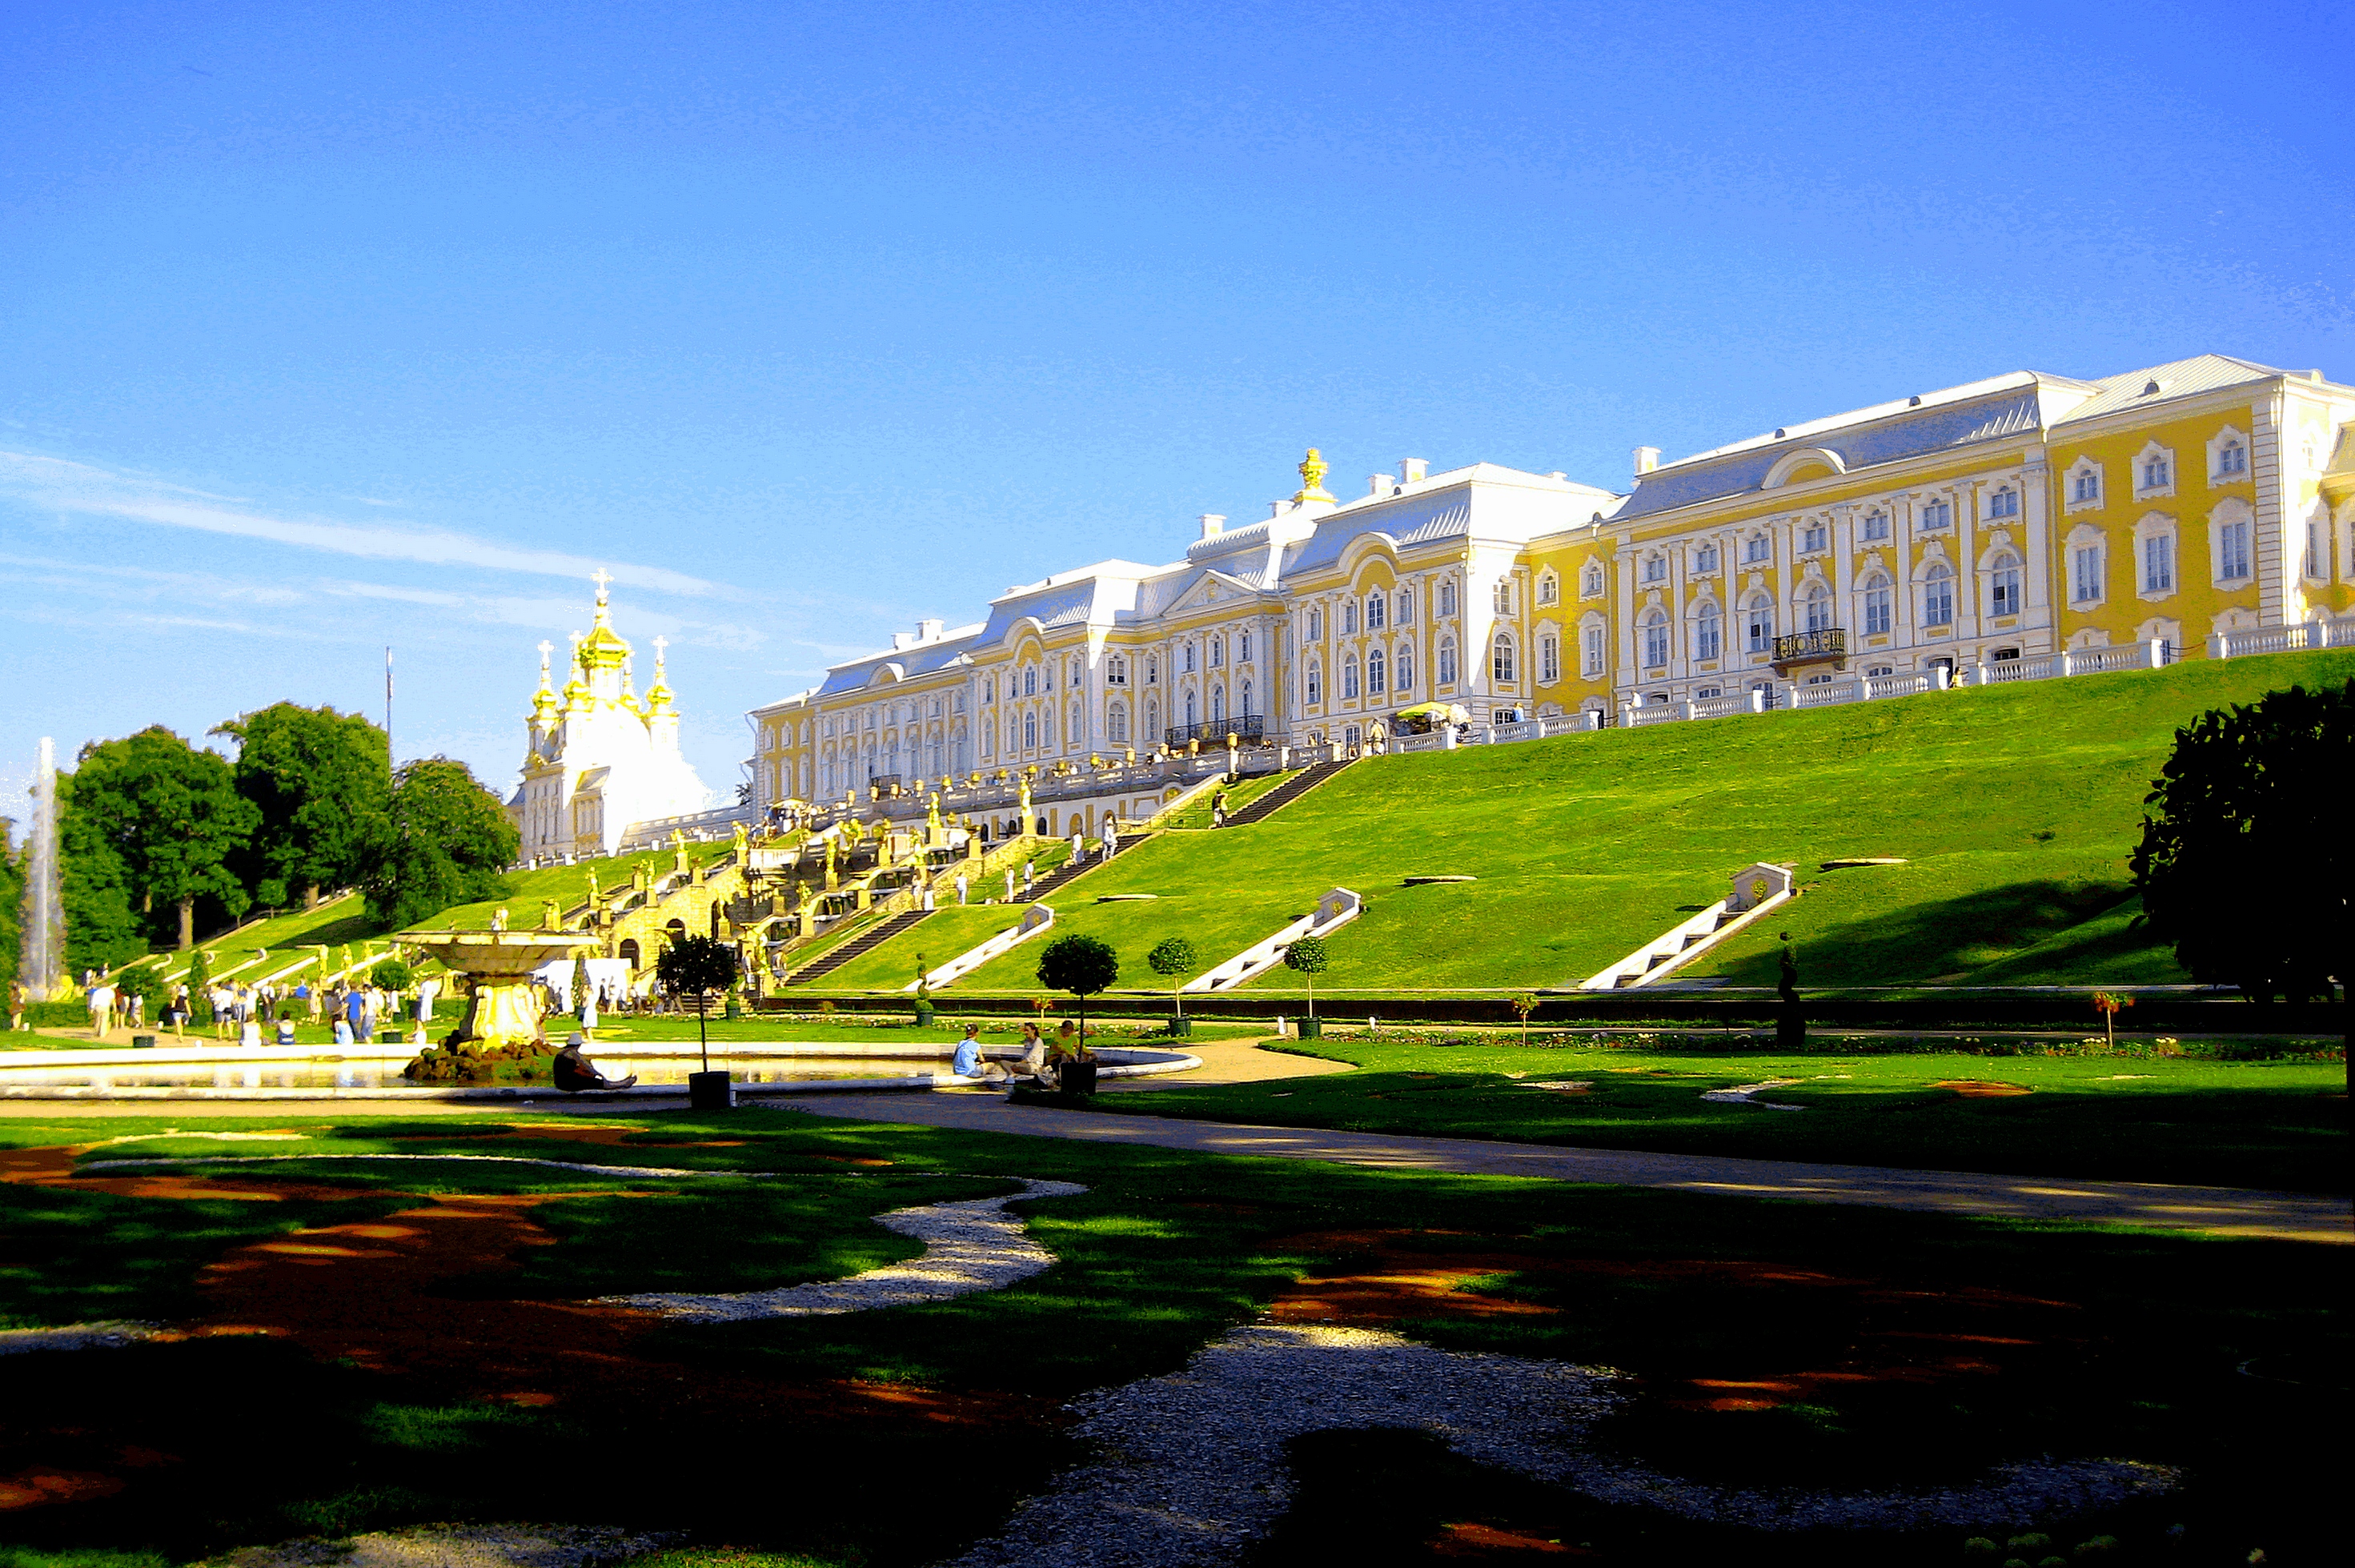
<svg viewBox="0 0 2355 1568"><path fill-rule="evenodd" d="M179 946L195 942L198 899L231 918L252 902L233 859L261 812L238 793L219 753L162 725L89 742L73 770L73 810L122 857L141 906L179 911Z"/></svg>

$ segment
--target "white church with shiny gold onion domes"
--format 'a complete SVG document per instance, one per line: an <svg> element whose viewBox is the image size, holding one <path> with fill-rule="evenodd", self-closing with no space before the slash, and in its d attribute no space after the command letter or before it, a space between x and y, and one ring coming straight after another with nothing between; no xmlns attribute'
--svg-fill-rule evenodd
<svg viewBox="0 0 2355 1568"><path fill-rule="evenodd" d="M525 720L523 784L506 815L523 833L523 859L612 855L633 822L683 817L711 805L711 791L678 753L678 706L655 638L655 683L631 690L631 645L612 629L605 572L596 574L596 624L572 633L572 662L558 692L539 645L539 690Z"/></svg>

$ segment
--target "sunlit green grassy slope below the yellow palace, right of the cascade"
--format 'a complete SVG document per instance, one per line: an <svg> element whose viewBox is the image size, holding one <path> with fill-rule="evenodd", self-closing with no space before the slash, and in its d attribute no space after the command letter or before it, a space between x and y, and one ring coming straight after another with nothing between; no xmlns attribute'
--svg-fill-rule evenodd
<svg viewBox="0 0 2355 1568"><path fill-rule="evenodd" d="M1375 758L1255 826L1140 845L1067 888L1057 918L1121 951L1121 989L1147 989L1161 937L1189 937L1208 968L1338 885L1366 913L1333 939L1319 991L1575 984L1769 859L1799 864L1804 897L1689 972L1773 984L1790 930L1811 986L2181 979L2127 906L2141 803L2176 727L2350 678L2355 652L2202 659ZM1842 857L1908 864L1818 869ZM1415 873L1479 881L1404 888ZM1154 899L1095 902L1112 892ZM918 946L947 958L947 937L909 932L827 989L904 979ZM1034 968L1015 949L956 994L1036 991ZM1276 970L1255 989L1300 979Z"/></svg>

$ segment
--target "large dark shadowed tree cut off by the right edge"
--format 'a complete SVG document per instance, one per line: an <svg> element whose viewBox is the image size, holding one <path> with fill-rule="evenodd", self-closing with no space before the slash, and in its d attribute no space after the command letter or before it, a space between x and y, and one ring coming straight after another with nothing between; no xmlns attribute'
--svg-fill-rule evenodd
<svg viewBox="0 0 2355 1568"><path fill-rule="evenodd" d="M2350 979L2350 765L2355 683L2294 685L2176 730L2129 864L2143 916L2193 979L2256 1003Z"/></svg>

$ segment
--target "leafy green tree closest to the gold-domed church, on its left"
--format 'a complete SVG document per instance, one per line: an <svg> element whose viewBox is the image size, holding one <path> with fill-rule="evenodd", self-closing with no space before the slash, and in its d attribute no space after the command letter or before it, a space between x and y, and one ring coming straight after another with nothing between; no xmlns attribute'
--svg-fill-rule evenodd
<svg viewBox="0 0 2355 1568"><path fill-rule="evenodd" d="M393 775L389 810L360 845L367 918L403 928L506 895L516 824L466 763L431 756Z"/></svg>

